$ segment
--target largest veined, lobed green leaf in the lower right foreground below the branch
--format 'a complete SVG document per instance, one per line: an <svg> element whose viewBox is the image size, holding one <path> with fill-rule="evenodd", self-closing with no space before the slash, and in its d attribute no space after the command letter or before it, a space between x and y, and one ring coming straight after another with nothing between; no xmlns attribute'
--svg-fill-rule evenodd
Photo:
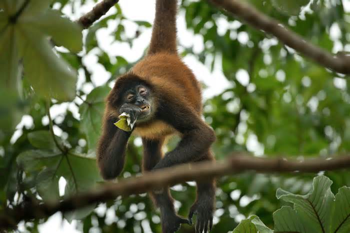
<svg viewBox="0 0 350 233"><path fill-rule="evenodd" d="M295 195L277 189L276 197L294 204L294 209L308 232L329 232L334 195L332 181L325 176L313 179L312 190L306 195Z"/></svg>

